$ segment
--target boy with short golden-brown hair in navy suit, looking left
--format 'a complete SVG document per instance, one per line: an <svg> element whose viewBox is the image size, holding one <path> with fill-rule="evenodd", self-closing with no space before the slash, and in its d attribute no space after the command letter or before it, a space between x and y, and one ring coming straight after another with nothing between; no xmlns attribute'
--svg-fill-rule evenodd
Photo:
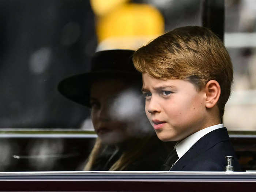
<svg viewBox="0 0 256 192"><path fill-rule="evenodd" d="M180 27L138 49L133 63L158 138L177 141L162 170L223 171L225 156L240 170L221 123L233 80L221 40L204 27Z"/></svg>

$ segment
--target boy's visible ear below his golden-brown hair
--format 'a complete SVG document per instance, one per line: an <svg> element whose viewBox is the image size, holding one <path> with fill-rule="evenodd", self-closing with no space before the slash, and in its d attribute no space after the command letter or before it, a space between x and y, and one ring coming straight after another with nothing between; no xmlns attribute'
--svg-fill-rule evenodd
<svg viewBox="0 0 256 192"><path fill-rule="evenodd" d="M219 101L221 95L221 86L216 80L210 80L206 83L206 107L213 108Z"/></svg>

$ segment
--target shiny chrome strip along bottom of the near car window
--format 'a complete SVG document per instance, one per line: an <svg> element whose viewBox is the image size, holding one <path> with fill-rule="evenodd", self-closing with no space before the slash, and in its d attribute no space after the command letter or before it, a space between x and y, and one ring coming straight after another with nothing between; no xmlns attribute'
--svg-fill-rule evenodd
<svg viewBox="0 0 256 192"><path fill-rule="evenodd" d="M0 181L256 182L249 172L0 172Z"/></svg>

